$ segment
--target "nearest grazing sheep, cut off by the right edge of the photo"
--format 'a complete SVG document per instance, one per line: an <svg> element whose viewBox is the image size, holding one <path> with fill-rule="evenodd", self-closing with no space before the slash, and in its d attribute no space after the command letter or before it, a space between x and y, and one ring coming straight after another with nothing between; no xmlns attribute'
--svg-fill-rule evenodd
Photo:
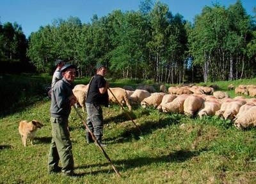
<svg viewBox="0 0 256 184"><path fill-rule="evenodd" d="M234 125L237 129L255 127L256 126L256 106L253 106L248 111L245 111L243 116L239 116L234 121Z"/></svg>

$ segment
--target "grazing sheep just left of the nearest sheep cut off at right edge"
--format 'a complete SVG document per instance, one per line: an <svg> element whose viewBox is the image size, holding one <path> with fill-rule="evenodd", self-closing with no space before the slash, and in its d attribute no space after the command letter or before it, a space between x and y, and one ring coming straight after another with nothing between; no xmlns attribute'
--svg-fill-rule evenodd
<svg viewBox="0 0 256 184"><path fill-rule="evenodd" d="M223 118L225 120L230 119L233 120L237 115L239 108L245 104L246 101L235 100L227 104L227 108L223 113Z"/></svg>

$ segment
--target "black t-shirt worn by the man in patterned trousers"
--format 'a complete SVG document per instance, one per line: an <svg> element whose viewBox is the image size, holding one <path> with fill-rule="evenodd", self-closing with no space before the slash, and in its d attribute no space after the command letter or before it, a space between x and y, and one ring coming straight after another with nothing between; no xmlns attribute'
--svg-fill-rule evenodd
<svg viewBox="0 0 256 184"><path fill-rule="evenodd" d="M88 90L88 96L86 98L86 103L92 104L103 104L108 106L108 90L105 94L100 94L99 88L106 86L106 80L104 76L96 74L93 76L92 82Z"/></svg>

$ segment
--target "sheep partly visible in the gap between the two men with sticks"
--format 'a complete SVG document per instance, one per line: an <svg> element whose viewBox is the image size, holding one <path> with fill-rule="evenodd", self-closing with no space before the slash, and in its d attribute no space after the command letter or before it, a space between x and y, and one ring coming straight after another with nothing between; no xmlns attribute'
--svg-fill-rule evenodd
<svg viewBox="0 0 256 184"><path fill-rule="evenodd" d="M82 107L83 112L84 112L87 92L88 92L88 85L78 84L73 88L73 94L74 96L76 96L77 103Z"/></svg>

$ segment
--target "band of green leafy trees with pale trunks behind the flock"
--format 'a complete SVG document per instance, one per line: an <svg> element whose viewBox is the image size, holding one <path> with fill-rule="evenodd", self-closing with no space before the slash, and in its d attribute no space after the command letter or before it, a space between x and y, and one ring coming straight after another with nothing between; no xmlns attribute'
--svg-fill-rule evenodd
<svg viewBox="0 0 256 184"><path fill-rule="evenodd" d="M79 17L55 19L29 38L17 22L0 22L1 73L52 74L56 59L76 64L79 77L92 76L95 65L104 62L113 79L192 83L254 78L255 16L237 0L227 8L204 6L188 22L161 1L145 0L138 11L92 15L86 24Z"/></svg>

